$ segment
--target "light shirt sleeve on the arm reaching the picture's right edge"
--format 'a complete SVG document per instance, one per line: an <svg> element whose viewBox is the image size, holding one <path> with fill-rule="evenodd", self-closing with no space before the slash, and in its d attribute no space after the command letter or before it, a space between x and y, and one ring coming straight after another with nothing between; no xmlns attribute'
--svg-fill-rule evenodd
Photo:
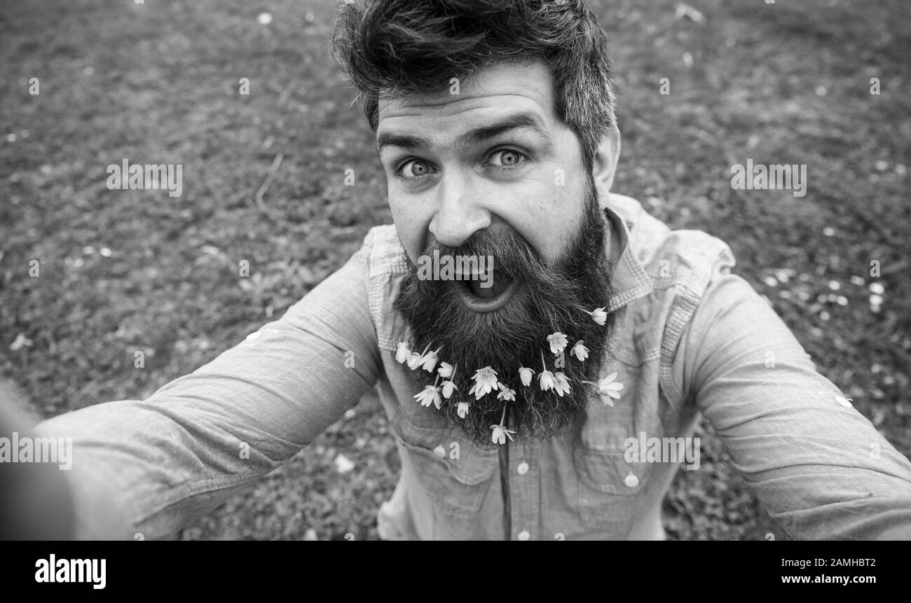
<svg viewBox="0 0 911 603"><path fill-rule="evenodd" d="M719 262L674 371L769 514L799 539L911 538L911 463Z"/></svg>

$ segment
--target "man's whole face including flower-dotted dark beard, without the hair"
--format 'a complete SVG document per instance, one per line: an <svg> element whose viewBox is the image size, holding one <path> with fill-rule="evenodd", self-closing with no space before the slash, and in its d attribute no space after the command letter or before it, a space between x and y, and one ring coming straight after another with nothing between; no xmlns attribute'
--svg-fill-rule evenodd
<svg viewBox="0 0 911 603"><path fill-rule="evenodd" d="M547 436L572 423L598 374L606 329L588 312L607 306L606 220L578 138L555 113L545 66L486 68L450 90L383 101L377 143L395 228L410 264L396 310L411 327L413 351L439 349L457 365L458 390L441 407L478 443L505 421L521 436ZM422 257L493 257L474 282L426 279ZM480 266L480 262L478 262ZM470 278L469 275L461 275ZM492 280L485 287L479 281ZM548 335L568 345L555 356ZM570 356L579 340L589 350ZM489 366L515 390L468 392ZM519 369L532 369L525 385ZM542 389L537 375L564 374L571 392ZM418 385L440 385L415 371ZM458 412L459 403L468 410Z"/></svg>

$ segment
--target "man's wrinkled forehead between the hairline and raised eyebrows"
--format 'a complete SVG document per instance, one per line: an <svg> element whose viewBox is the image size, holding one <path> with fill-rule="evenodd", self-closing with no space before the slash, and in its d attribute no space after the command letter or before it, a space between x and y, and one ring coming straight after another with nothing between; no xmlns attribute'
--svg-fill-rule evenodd
<svg viewBox="0 0 911 603"><path fill-rule="evenodd" d="M477 120L523 111L544 127L556 119L550 73L542 63L498 63L450 87L433 92L382 99L378 107L377 136L384 130L424 122L435 128L469 128ZM457 91L455 94L454 91Z"/></svg>

